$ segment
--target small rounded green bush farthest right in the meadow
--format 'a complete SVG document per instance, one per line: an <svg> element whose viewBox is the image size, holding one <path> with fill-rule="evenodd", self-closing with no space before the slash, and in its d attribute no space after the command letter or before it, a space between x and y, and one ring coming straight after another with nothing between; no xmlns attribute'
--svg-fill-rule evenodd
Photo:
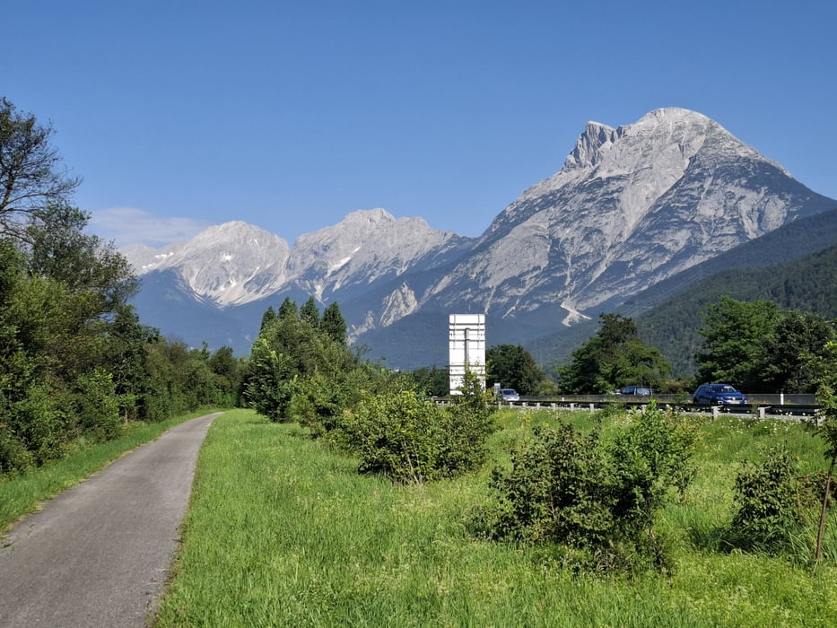
<svg viewBox="0 0 837 628"><path fill-rule="evenodd" d="M745 462L736 478L732 545L776 551L790 544L811 519L812 502L798 475L796 461L784 449L770 449L761 464Z"/></svg>

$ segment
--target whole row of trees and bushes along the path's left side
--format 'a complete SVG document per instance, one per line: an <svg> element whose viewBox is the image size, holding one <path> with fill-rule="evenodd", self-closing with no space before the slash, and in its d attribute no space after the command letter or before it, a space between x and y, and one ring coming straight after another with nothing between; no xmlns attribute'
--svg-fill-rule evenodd
<svg viewBox="0 0 837 628"><path fill-rule="evenodd" d="M81 179L53 129L0 100L0 476L25 472L131 421L236 403L230 348L189 349L141 324L138 281L71 203Z"/></svg>

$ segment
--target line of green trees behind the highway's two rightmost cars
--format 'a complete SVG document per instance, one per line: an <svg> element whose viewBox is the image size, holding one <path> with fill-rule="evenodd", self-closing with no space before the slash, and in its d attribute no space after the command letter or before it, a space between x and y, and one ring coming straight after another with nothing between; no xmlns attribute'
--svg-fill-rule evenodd
<svg viewBox="0 0 837 628"><path fill-rule="evenodd" d="M566 393L606 394L630 384L659 392L692 390L722 381L751 393L815 393L837 341L837 320L774 301L737 301L721 295L702 310L693 377L672 379L663 353L646 345L631 318L602 314L601 326L558 367L557 388Z"/></svg>

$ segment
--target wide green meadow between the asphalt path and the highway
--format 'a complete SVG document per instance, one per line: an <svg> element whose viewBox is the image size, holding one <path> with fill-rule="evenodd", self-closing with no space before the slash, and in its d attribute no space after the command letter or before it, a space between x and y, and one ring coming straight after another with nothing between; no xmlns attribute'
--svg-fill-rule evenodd
<svg viewBox="0 0 837 628"><path fill-rule="evenodd" d="M575 413L574 421L580 421ZM493 458L548 413L502 416ZM588 417L589 418L589 417ZM478 475L394 485L298 426L249 411L215 420L201 450L183 545L158 626L830 626L832 558L805 564L712 547L742 455L785 440L824 467L798 425L729 419L701 426L701 471L663 513L676 571L573 575L545 553L475 540L467 513L488 494ZM832 520L828 542L835 543Z"/></svg>

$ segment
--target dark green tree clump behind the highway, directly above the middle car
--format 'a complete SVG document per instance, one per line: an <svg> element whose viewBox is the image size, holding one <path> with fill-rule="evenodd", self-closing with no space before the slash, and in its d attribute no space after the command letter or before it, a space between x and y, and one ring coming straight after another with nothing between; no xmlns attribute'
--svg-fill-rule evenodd
<svg viewBox="0 0 837 628"><path fill-rule="evenodd" d="M662 353L637 336L631 318L601 314L596 336L572 352L572 362L558 368L565 393L608 393L628 384L659 388L671 367Z"/></svg>

